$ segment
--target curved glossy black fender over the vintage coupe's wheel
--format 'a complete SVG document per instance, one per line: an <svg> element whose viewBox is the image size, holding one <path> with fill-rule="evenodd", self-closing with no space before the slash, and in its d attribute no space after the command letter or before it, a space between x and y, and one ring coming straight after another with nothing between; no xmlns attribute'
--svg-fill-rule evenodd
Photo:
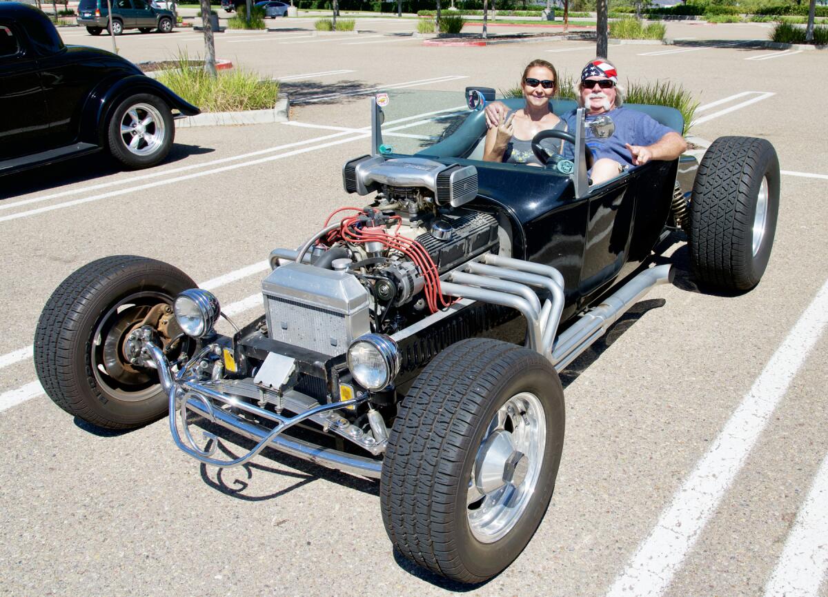
<svg viewBox="0 0 828 597"><path fill-rule="evenodd" d="M106 125L115 108L123 98L134 93L152 93L162 98L167 105L185 116L195 116L201 111L185 99L173 93L165 85L144 74L130 74L127 77L104 79L84 105L80 121L80 140L106 146Z"/></svg>

